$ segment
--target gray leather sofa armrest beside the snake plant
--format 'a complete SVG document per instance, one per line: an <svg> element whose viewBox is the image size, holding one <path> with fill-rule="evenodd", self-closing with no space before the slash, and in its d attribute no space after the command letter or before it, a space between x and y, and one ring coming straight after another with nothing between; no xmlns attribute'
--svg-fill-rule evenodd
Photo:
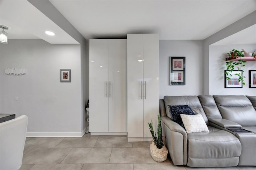
<svg viewBox="0 0 256 170"><path fill-rule="evenodd" d="M186 165L188 162L188 136L186 130L169 117L161 118L166 147L174 165Z"/></svg>

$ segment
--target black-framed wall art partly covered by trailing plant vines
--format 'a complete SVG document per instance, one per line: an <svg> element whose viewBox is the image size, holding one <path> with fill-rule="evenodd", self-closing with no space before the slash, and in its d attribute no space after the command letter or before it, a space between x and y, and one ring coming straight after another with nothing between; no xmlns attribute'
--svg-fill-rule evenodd
<svg viewBox="0 0 256 170"><path fill-rule="evenodd" d="M227 79L227 70L225 70L225 88L243 88L242 80L239 79L239 74L243 74L242 70L233 70L230 79Z"/></svg>

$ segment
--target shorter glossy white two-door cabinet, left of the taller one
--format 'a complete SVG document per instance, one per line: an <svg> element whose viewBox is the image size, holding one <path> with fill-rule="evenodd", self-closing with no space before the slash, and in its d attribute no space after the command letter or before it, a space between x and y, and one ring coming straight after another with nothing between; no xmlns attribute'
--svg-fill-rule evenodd
<svg viewBox="0 0 256 170"><path fill-rule="evenodd" d="M89 40L91 135L126 135L126 39Z"/></svg>

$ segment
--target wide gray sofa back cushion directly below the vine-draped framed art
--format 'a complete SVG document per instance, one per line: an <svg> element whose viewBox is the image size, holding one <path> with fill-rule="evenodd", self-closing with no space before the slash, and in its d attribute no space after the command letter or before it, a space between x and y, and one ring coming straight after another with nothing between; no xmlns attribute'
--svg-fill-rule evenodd
<svg viewBox="0 0 256 170"><path fill-rule="evenodd" d="M223 119L242 126L256 126L256 110L246 96L214 95L213 98Z"/></svg>

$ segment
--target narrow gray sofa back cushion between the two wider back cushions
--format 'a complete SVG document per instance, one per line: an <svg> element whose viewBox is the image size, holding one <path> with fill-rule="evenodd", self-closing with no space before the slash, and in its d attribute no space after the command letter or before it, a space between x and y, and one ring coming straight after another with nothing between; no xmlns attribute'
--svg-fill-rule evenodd
<svg viewBox="0 0 256 170"><path fill-rule="evenodd" d="M220 111L212 95L201 95L201 96L198 96L198 99L200 100L201 105L204 109L204 113L206 114L208 119L222 118Z"/></svg>

